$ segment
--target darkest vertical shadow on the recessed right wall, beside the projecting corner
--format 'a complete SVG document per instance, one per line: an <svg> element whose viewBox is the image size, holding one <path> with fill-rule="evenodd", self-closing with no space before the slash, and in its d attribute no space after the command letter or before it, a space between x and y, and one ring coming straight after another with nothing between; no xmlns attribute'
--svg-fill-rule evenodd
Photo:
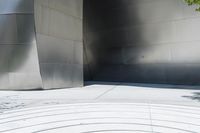
<svg viewBox="0 0 200 133"><path fill-rule="evenodd" d="M126 81L130 78L126 60L136 62L124 53L135 47L135 40L143 40L141 31L132 30L140 23L138 1L84 0L84 79L85 81ZM131 58L131 59L130 59ZM122 72L122 69L128 70Z"/></svg>

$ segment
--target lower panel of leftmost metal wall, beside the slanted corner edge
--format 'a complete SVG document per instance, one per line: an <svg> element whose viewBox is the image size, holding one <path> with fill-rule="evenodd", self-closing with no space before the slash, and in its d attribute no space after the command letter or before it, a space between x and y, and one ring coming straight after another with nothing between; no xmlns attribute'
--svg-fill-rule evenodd
<svg viewBox="0 0 200 133"><path fill-rule="evenodd" d="M9 45L9 84L12 90L42 88L36 43ZM3 88L4 89L4 88Z"/></svg>

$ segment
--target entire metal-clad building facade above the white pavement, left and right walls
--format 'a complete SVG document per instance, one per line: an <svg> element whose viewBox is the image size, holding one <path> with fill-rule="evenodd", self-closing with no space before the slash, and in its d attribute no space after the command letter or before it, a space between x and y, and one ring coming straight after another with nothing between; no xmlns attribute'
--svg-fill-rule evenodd
<svg viewBox="0 0 200 133"><path fill-rule="evenodd" d="M199 85L199 22L182 0L0 0L0 89Z"/></svg>

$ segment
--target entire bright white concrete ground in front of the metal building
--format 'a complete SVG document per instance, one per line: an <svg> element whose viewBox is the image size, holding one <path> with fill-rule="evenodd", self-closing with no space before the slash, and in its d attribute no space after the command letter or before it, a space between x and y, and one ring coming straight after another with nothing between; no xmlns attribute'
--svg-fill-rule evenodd
<svg viewBox="0 0 200 133"><path fill-rule="evenodd" d="M198 87L95 83L1 91L0 133L199 133Z"/></svg>

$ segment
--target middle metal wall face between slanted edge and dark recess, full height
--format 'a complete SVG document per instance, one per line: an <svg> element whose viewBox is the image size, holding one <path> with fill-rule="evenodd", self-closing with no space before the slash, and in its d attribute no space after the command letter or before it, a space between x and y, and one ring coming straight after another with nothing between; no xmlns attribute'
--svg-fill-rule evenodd
<svg viewBox="0 0 200 133"><path fill-rule="evenodd" d="M83 85L82 0L35 0L45 89Z"/></svg>

